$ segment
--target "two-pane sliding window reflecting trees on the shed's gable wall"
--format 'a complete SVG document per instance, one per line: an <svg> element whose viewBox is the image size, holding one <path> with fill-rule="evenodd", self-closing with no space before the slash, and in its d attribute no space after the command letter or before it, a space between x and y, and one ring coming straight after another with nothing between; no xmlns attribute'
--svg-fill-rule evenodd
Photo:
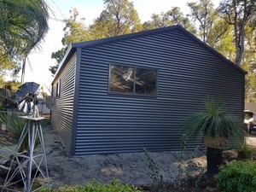
<svg viewBox="0 0 256 192"><path fill-rule="evenodd" d="M110 65L109 91L155 96L156 76L154 69Z"/></svg>

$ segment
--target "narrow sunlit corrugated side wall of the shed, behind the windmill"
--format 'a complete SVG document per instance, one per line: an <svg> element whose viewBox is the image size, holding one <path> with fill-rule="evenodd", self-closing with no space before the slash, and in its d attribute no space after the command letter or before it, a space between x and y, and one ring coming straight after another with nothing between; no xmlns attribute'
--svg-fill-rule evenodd
<svg viewBox="0 0 256 192"><path fill-rule="evenodd" d="M67 151L70 151L72 141L75 68L76 54L70 58L52 86L52 96L56 96L57 84L60 86L60 93L56 96L55 106L51 111L51 124Z"/></svg>

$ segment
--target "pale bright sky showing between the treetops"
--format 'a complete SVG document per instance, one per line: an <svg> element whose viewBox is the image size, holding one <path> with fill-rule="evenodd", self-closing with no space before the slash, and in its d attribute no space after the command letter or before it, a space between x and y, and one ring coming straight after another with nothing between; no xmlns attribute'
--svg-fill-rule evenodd
<svg viewBox="0 0 256 192"><path fill-rule="evenodd" d="M166 12L172 7L180 7L184 14L189 13L186 3L195 2L196 0L133 0L135 9L142 22L150 20L152 14ZM212 2L218 4L220 0ZM63 38L64 24L60 21L69 17L69 10L77 8L81 17L86 19L86 24L90 25L104 9L103 0L48 0L49 6L58 20L49 20L49 32L41 42L41 49L32 50L28 56L31 63L26 67L25 82L37 82L50 87L53 77L49 72L49 67L55 65L55 60L51 59L51 53L61 49L61 38ZM20 80L20 78L19 78Z"/></svg>

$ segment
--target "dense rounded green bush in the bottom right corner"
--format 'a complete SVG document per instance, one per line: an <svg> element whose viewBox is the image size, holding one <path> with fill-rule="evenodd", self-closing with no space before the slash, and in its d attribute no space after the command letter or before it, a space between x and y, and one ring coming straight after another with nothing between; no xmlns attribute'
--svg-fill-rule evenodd
<svg viewBox="0 0 256 192"><path fill-rule="evenodd" d="M224 192L256 191L256 162L233 160L219 167L217 187Z"/></svg>

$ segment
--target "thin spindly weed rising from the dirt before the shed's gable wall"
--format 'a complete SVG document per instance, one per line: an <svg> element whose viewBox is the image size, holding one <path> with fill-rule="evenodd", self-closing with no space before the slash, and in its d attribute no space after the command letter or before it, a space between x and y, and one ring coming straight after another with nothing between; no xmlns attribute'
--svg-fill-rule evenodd
<svg viewBox="0 0 256 192"><path fill-rule="evenodd" d="M148 160L148 167L151 172L149 172L149 176L153 181L153 187L155 191L163 192L166 191L166 184L163 182L163 176L160 175L159 168L157 167L154 160L148 154L146 148L143 148L143 152L145 153L147 160Z"/></svg>

